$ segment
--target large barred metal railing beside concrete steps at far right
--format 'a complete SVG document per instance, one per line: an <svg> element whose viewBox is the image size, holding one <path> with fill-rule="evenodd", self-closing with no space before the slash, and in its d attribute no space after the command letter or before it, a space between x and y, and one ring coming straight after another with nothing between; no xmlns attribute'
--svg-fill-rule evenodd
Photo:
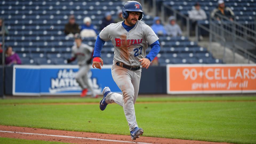
<svg viewBox="0 0 256 144"><path fill-rule="evenodd" d="M229 47L233 53L243 55L250 60L256 60L256 31L242 25L236 21L230 21L229 18L216 14L216 17L210 18L210 35L211 41L216 41L214 35L218 35L222 39L225 39L225 45ZM255 23L251 23L255 25ZM196 32L197 33L197 32ZM198 37L197 37L198 39ZM210 41L210 42L211 42ZM233 60L235 63L235 58Z"/></svg>

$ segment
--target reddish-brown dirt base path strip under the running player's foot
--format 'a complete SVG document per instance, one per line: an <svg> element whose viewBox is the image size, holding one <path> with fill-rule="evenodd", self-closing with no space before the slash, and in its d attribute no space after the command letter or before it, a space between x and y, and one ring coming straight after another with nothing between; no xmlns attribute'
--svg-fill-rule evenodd
<svg viewBox="0 0 256 144"><path fill-rule="evenodd" d="M29 140L56 141L67 143L202 143L214 144L217 142L191 141L182 139L140 137L137 140L131 140L128 135L85 133L77 131L49 130L28 127L2 126L0 125L0 137L19 138ZM222 144L222 143L221 143Z"/></svg>

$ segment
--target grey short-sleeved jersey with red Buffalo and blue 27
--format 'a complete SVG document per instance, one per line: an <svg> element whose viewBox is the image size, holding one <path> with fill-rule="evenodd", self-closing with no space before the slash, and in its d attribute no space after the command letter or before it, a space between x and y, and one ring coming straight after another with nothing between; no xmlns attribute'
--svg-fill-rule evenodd
<svg viewBox="0 0 256 144"><path fill-rule="evenodd" d="M122 26L122 22L111 23L105 27L99 37L103 41L112 41L114 46L114 63L121 62L128 66L139 66L139 59L146 57L147 43L151 45L159 38L141 21L137 21L129 32Z"/></svg>

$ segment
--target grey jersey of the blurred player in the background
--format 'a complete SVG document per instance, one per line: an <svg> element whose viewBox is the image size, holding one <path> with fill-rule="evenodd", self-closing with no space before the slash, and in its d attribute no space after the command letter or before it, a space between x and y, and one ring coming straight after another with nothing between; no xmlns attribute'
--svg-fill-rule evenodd
<svg viewBox="0 0 256 144"><path fill-rule="evenodd" d="M77 63L79 66L87 65L87 61L91 58L91 53L93 52L93 47L81 43L78 48L77 45L72 47L72 57L77 59Z"/></svg>

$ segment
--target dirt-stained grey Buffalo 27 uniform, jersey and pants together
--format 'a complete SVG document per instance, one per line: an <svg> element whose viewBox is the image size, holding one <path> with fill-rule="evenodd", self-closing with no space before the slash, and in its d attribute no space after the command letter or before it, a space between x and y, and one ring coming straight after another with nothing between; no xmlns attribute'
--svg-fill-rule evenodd
<svg viewBox="0 0 256 144"><path fill-rule="evenodd" d="M114 81L123 93L123 95L109 93L105 101L106 103L114 102L123 107L131 131L138 127L134 103L138 97L141 69L131 71L117 66L116 62L120 62L120 65L141 66L139 60L146 56L147 43L151 45L158 40L158 37L148 25L141 21L137 21L129 32L122 26L122 22L112 23L101 31L99 37L103 41L111 40L114 45L111 72Z"/></svg>

